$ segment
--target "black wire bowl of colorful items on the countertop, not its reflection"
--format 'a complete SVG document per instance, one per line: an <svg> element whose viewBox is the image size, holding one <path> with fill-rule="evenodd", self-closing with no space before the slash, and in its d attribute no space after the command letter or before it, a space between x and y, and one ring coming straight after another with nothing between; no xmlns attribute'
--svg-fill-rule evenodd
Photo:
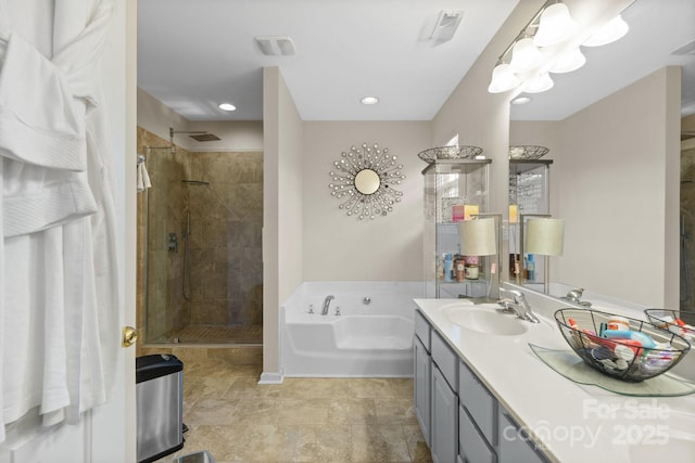
<svg viewBox="0 0 695 463"><path fill-rule="evenodd" d="M667 372L691 348L675 333L614 313L560 309L555 312L555 321L565 340L585 363L630 383Z"/></svg>

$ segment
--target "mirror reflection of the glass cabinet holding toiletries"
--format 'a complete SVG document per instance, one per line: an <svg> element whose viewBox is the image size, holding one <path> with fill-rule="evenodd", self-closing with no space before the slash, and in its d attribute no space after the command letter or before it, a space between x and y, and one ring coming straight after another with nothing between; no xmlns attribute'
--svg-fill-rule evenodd
<svg viewBox="0 0 695 463"><path fill-rule="evenodd" d="M552 159L509 159L509 278L542 290L544 259L520 256L521 215L548 215Z"/></svg>

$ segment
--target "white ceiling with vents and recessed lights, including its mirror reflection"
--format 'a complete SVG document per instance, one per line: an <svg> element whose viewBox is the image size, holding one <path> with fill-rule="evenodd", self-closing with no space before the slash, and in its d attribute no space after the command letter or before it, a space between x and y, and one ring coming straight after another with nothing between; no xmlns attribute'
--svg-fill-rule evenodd
<svg viewBox="0 0 695 463"><path fill-rule="evenodd" d="M190 120L261 120L262 69L278 66L304 120L430 120L517 2L139 0L138 87ZM442 10L464 16L434 44ZM561 119L666 64L685 66L684 105L695 112L695 52L670 55L695 40L695 1L636 0L623 17L628 36L582 49L587 64L513 106L513 118ZM296 54L263 55L256 36L289 36ZM366 95L379 104L361 104Z"/></svg>

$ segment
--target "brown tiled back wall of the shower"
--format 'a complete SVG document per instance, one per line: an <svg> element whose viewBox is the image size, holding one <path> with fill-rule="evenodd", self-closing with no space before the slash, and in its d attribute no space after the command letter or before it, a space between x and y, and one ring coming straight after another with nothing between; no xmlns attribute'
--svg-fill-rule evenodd
<svg viewBox="0 0 695 463"><path fill-rule="evenodd" d="M263 324L263 155L192 153L191 323Z"/></svg>

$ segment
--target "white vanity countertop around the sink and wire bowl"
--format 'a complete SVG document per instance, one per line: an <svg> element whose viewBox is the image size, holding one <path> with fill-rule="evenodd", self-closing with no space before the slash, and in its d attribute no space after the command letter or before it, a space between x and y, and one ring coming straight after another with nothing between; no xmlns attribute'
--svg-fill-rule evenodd
<svg viewBox="0 0 695 463"><path fill-rule="evenodd" d="M513 336L483 334L450 322L442 308L467 304L466 299L415 303L551 460L654 463L666 458L695 462L695 395L621 396L561 376L538 358L529 343L570 350L553 318L556 309L568 306L559 300L541 300L529 293L527 299L541 323L529 323L526 333ZM470 307L481 308L472 304ZM621 312L614 307L607 311ZM629 309L622 314L644 318ZM694 359L695 351L688 352L679 366ZM695 362L688 362L687 368Z"/></svg>

